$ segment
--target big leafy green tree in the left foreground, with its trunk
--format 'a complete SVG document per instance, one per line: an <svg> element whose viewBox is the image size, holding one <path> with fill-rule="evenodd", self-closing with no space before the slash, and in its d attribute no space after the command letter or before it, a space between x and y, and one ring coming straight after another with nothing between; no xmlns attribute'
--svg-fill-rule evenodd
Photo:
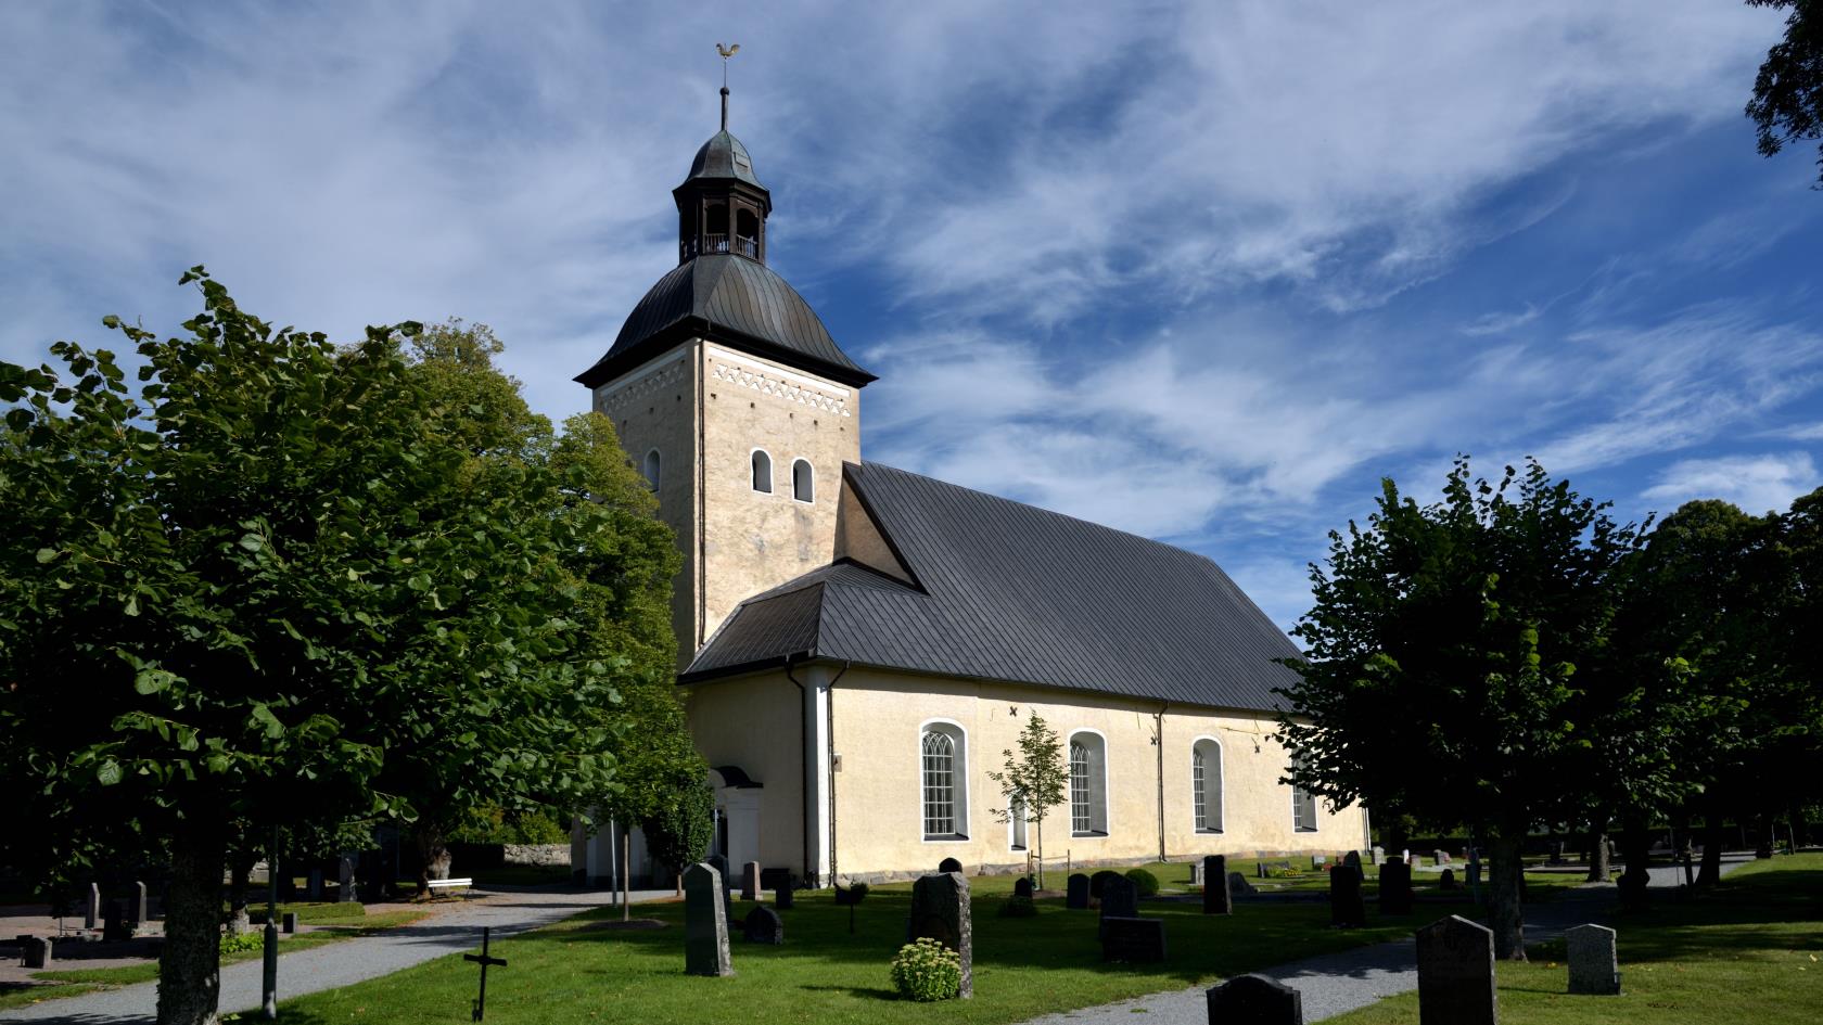
<svg viewBox="0 0 1823 1025"><path fill-rule="evenodd" d="M66 850L170 843L162 1025L215 1020L237 823L410 821L427 779L572 804L609 784L623 671L571 569L611 516L547 461L470 485L417 325L341 348L184 283L188 336L106 321L137 396L108 350L0 363L0 788Z"/></svg>

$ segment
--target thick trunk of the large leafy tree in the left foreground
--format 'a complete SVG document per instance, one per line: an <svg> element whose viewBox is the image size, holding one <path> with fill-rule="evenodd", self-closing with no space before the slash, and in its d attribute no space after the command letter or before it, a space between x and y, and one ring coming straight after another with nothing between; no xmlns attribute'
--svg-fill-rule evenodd
<svg viewBox="0 0 1823 1025"><path fill-rule="evenodd" d="M171 841L171 888L159 956L159 1025L215 1025L221 998L226 832L186 823Z"/></svg>

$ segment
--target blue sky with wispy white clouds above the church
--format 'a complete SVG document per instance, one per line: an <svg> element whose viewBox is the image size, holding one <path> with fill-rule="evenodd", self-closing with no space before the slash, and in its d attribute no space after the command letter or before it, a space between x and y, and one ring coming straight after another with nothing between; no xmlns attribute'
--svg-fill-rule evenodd
<svg viewBox="0 0 1823 1025"><path fill-rule="evenodd" d="M1464 4L7 4L0 357L483 321L552 418L716 126L881 376L864 456L1201 551L1282 624L1391 476L1622 516L1823 483L1823 193L1776 13Z"/></svg>

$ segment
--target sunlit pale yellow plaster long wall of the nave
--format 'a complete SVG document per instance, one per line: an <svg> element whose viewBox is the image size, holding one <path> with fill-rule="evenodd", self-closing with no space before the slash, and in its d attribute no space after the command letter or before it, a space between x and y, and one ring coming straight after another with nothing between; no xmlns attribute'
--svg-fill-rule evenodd
<svg viewBox="0 0 1823 1025"><path fill-rule="evenodd" d="M968 870L1023 863L990 804L1001 790L988 771L1017 746L1032 713L1065 744L1076 730L1099 730L1108 750L1108 835L1072 837L1068 804L1045 823L1045 855L1066 850L1076 863L1152 861L1159 855L1158 702L1074 695L1012 684L983 684L875 669L850 669L831 693L835 751L837 868L842 875L930 872L957 857ZM1012 709L1017 708L1017 713ZM924 841L921 810L921 726L944 719L966 731L968 839ZM1293 832L1291 788L1278 784L1283 748L1267 739L1271 719L1205 708L1170 708L1165 728L1165 854L1258 855L1360 848L1360 808L1331 813L1318 802L1318 830ZM1223 746L1223 832L1196 833L1190 808L1190 746L1201 737ZM1256 751L1258 746L1258 751ZM1028 830L1032 830L1028 826ZM1028 841L1035 846L1035 830Z"/></svg>

